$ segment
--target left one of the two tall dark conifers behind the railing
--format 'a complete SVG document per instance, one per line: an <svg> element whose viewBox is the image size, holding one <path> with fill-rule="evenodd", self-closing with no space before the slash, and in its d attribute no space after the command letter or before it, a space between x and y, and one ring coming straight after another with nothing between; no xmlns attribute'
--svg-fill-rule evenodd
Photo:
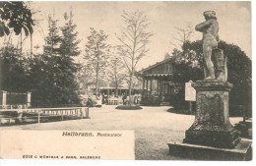
<svg viewBox="0 0 256 166"><path fill-rule="evenodd" d="M43 54L35 56L32 62L32 106L52 107L59 104L57 80L61 37L57 23L54 15L48 16L48 35L45 37Z"/></svg>

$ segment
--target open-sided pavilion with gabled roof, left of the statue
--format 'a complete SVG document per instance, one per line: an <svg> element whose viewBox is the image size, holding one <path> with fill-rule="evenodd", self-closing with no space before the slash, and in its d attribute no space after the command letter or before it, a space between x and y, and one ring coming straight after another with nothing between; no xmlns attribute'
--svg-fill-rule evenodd
<svg viewBox="0 0 256 166"><path fill-rule="evenodd" d="M178 75L174 66L171 58L165 57L163 61L136 74L143 79L143 105L174 105L180 102L184 95L184 83L174 82L174 75Z"/></svg>

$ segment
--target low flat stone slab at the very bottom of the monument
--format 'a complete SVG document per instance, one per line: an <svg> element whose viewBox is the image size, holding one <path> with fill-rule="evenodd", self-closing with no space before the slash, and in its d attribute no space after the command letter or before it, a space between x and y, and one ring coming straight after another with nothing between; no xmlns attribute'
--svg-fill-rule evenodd
<svg viewBox="0 0 256 166"><path fill-rule="evenodd" d="M251 141L243 139L233 149L178 142L170 142L168 146L170 155L193 160L252 160Z"/></svg>

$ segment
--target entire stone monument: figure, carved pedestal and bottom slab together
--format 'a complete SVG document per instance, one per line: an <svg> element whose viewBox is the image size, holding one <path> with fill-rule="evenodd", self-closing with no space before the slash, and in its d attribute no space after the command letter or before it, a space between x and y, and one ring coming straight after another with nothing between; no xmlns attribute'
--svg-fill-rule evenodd
<svg viewBox="0 0 256 166"><path fill-rule="evenodd" d="M217 48L219 25L214 11L207 11L204 16L206 22L196 26L196 30L203 32L206 77L203 82L191 83L196 89L195 120L186 130L183 143L168 143L169 153L192 159L231 160L229 157L236 151L251 150L251 141L241 140L229 121L228 98L232 84L226 82L224 51ZM244 150L242 157L249 156L249 152ZM241 153L234 155L235 158L238 156Z"/></svg>

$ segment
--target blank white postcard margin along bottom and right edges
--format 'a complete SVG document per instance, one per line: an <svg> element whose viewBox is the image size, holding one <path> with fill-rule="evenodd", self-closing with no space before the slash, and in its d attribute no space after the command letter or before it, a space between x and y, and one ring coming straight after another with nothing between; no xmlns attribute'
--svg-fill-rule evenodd
<svg viewBox="0 0 256 166"><path fill-rule="evenodd" d="M2 1L2 0L1 0ZM17 0L13 0L13 1L17 1ZM35 0L38 1L38 0ZM49 0L41 0L41 1L49 1ZM55 1L61 1L61 0L55 0ZM62 1L69 1L69 0L62 0ZM81 1L81 0L77 0L77 1ZM85 0L84 0L85 1ZM88 1L88 0L86 0ZM91 0L92 1L92 0ZM96 0L93 0L96 1ZM104 1L104 0L99 0L99 1ZM112 1L118 1L118 0L112 0ZM120 0L119 0L120 1ZM137 1L137 0L126 0L126 1ZM156 0L141 0L141 1L156 1ZM161 0L161 1L167 1L167 0ZM188 0L185 0L188 1ZM197 1L209 1L209 0L197 0ZM216 1L216 0L215 0ZM220 1L220 0L217 0ZM231 1L231 0L225 0L225 1ZM240 1L246 1L246 0L240 0ZM248 0L247 0L248 1ZM252 18L255 18L255 3L251 2L252 4ZM252 19L252 29L256 29L255 26L255 21ZM255 32L252 30L252 59L253 59L253 55L255 53ZM255 71L256 71L256 66L254 64L254 61L252 61L252 78L253 78L253 103L256 102L255 100L255 82L254 82L254 78L255 78ZM254 108L253 104L253 108ZM254 112L254 110L253 110ZM255 113L253 113L253 118ZM255 138L255 125L254 125L254 121L253 121L253 138ZM167 148L167 146L166 146ZM126 161L126 160L121 160L121 161L112 161L112 160L104 160L104 161L92 161L92 160L25 160L25 159L14 159L14 160L7 160L7 159L0 159L0 166L28 166L28 165L36 165L36 166L48 166L48 165L60 165L60 166L101 166L101 165L111 165L111 166L131 166L131 165L135 165L135 166L141 166L141 165L147 165L147 166L152 166L152 165L159 165L159 166L171 166L171 165L179 165L179 166L199 166L199 165L203 165L203 166L247 166L247 165L255 165L256 158L255 158L255 152L253 153L253 160L252 161L174 161L174 160L167 160L167 161L155 161L155 160L146 160L146 161L138 161L138 160L134 160L134 161Z"/></svg>

